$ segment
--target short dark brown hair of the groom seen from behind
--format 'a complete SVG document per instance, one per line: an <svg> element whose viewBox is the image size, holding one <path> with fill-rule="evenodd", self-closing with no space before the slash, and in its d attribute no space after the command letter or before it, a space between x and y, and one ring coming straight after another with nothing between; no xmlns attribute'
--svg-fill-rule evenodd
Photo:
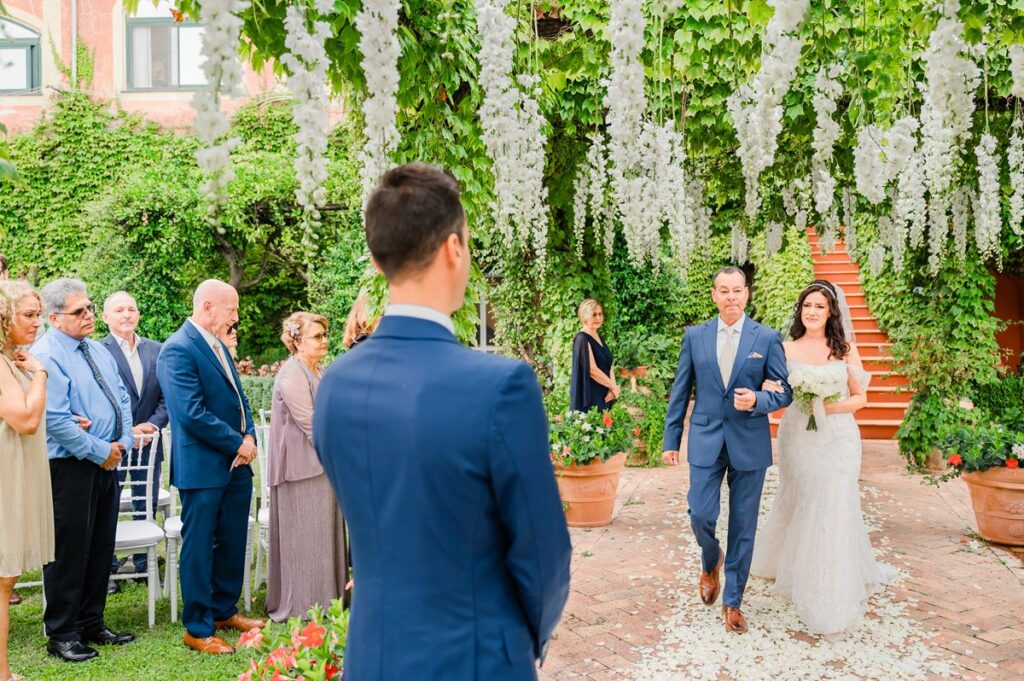
<svg viewBox="0 0 1024 681"><path fill-rule="evenodd" d="M415 273L450 235L462 239L459 182L445 170L407 163L381 177L367 202L367 246L388 281Z"/></svg>

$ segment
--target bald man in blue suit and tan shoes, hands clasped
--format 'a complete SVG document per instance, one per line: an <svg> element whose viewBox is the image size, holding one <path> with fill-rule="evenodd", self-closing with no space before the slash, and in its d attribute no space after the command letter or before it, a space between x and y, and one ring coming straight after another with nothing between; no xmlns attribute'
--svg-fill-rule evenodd
<svg viewBox="0 0 1024 681"><path fill-rule="evenodd" d="M207 280L193 314L157 359L171 417L171 484L181 497L181 621L185 645L221 654L233 648L218 629L248 631L260 620L237 607L245 574L256 429L242 380L219 337L239 321L239 294Z"/></svg>

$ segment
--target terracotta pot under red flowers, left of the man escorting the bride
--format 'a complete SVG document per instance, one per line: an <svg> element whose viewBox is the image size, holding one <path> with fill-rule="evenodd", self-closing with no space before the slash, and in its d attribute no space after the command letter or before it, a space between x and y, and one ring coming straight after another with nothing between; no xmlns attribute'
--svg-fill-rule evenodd
<svg viewBox="0 0 1024 681"><path fill-rule="evenodd" d="M558 493L565 506L565 521L570 526L600 527L611 522L618 476L625 466L625 452L585 466L555 464Z"/></svg>

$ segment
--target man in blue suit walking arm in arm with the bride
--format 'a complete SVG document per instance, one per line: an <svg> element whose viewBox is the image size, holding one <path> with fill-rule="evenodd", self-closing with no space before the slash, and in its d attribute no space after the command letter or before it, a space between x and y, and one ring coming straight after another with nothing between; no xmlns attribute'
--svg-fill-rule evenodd
<svg viewBox="0 0 1024 681"><path fill-rule="evenodd" d="M679 464L683 419L696 384L686 445L690 465L686 501L700 545L700 599L708 605L718 599L724 563L725 627L742 634L746 619L739 608L751 570L765 471L772 464L768 414L787 407L793 390L785 380L788 371L778 332L743 313L750 299L743 270L722 267L712 283L719 315L687 329L683 336L665 422L663 457L670 466ZM762 390L769 379L779 381L782 392ZM729 537L724 553L715 537L723 477L729 484Z"/></svg>

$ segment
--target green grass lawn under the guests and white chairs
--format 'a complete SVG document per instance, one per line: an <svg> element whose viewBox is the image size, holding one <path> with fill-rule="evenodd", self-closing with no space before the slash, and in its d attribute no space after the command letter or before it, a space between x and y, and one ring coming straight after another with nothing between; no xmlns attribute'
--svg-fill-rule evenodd
<svg viewBox="0 0 1024 681"><path fill-rule="evenodd" d="M25 581L38 580L26 574ZM118 681L234 679L249 668L253 651L241 649L233 655L205 655L186 648L181 642L181 601L178 622L170 621L170 601L157 601L157 626L146 626L146 590L144 584L122 582L122 591L106 599L106 625L117 632L135 634L135 642L123 646L97 646L99 657L70 665L46 654L43 635L42 594L40 589L18 591L25 601L11 607L10 665L26 681L37 679L117 679ZM264 616L264 590L254 594L250 608L253 616ZM276 625L284 627L284 625ZM223 638L232 645L239 632L225 631Z"/></svg>

